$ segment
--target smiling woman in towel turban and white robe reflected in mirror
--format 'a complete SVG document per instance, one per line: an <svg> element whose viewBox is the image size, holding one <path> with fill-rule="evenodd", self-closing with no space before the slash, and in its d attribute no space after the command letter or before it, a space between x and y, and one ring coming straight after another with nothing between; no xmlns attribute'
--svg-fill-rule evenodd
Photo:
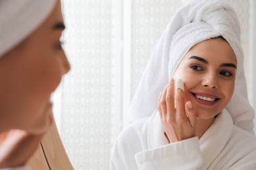
<svg viewBox="0 0 256 170"><path fill-rule="evenodd" d="M142 75L111 169L255 169L243 58L229 5L179 9Z"/></svg>

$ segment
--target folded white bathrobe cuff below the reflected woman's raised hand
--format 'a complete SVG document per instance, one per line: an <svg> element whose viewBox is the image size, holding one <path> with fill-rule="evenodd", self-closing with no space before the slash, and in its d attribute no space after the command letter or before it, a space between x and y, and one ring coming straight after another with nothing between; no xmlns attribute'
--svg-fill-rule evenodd
<svg viewBox="0 0 256 170"><path fill-rule="evenodd" d="M140 170L199 169L203 164L198 137L192 137L135 155Z"/></svg>

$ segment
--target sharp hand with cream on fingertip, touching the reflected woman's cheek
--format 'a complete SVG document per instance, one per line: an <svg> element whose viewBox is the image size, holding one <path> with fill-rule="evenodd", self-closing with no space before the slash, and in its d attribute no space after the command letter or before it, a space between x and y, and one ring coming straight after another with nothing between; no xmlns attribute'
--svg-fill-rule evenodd
<svg viewBox="0 0 256 170"><path fill-rule="evenodd" d="M158 99L158 111L160 113L161 123L170 143L182 141L196 135L196 110L194 110L191 101L184 103L184 92L179 88L175 99L173 97L175 90L173 78L160 93Z"/></svg>

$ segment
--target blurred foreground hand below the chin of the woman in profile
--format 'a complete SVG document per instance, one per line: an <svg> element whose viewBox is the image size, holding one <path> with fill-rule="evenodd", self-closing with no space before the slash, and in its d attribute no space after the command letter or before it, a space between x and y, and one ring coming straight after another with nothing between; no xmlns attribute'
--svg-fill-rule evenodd
<svg viewBox="0 0 256 170"><path fill-rule="evenodd" d="M53 122L53 114L49 117ZM48 127L49 129L49 127ZM25 165L37 150L43 135L31 134L20 129L13 129L0 134L0 169Z"/></svg>

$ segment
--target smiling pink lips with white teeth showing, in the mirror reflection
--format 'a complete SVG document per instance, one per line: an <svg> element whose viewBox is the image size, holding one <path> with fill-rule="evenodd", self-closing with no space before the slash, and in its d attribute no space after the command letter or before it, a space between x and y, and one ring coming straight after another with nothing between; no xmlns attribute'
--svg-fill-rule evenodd
<svg viewBox="0 0 256 170"><path fill-rule="evenodd" d="M220 99L216 95L212 95L209 93L196 92L196 93L192 93L192 95L194 99L198 101L198 103L202 105L207 105L207 106L215 105L215 103L217 103Z"/></svg>

